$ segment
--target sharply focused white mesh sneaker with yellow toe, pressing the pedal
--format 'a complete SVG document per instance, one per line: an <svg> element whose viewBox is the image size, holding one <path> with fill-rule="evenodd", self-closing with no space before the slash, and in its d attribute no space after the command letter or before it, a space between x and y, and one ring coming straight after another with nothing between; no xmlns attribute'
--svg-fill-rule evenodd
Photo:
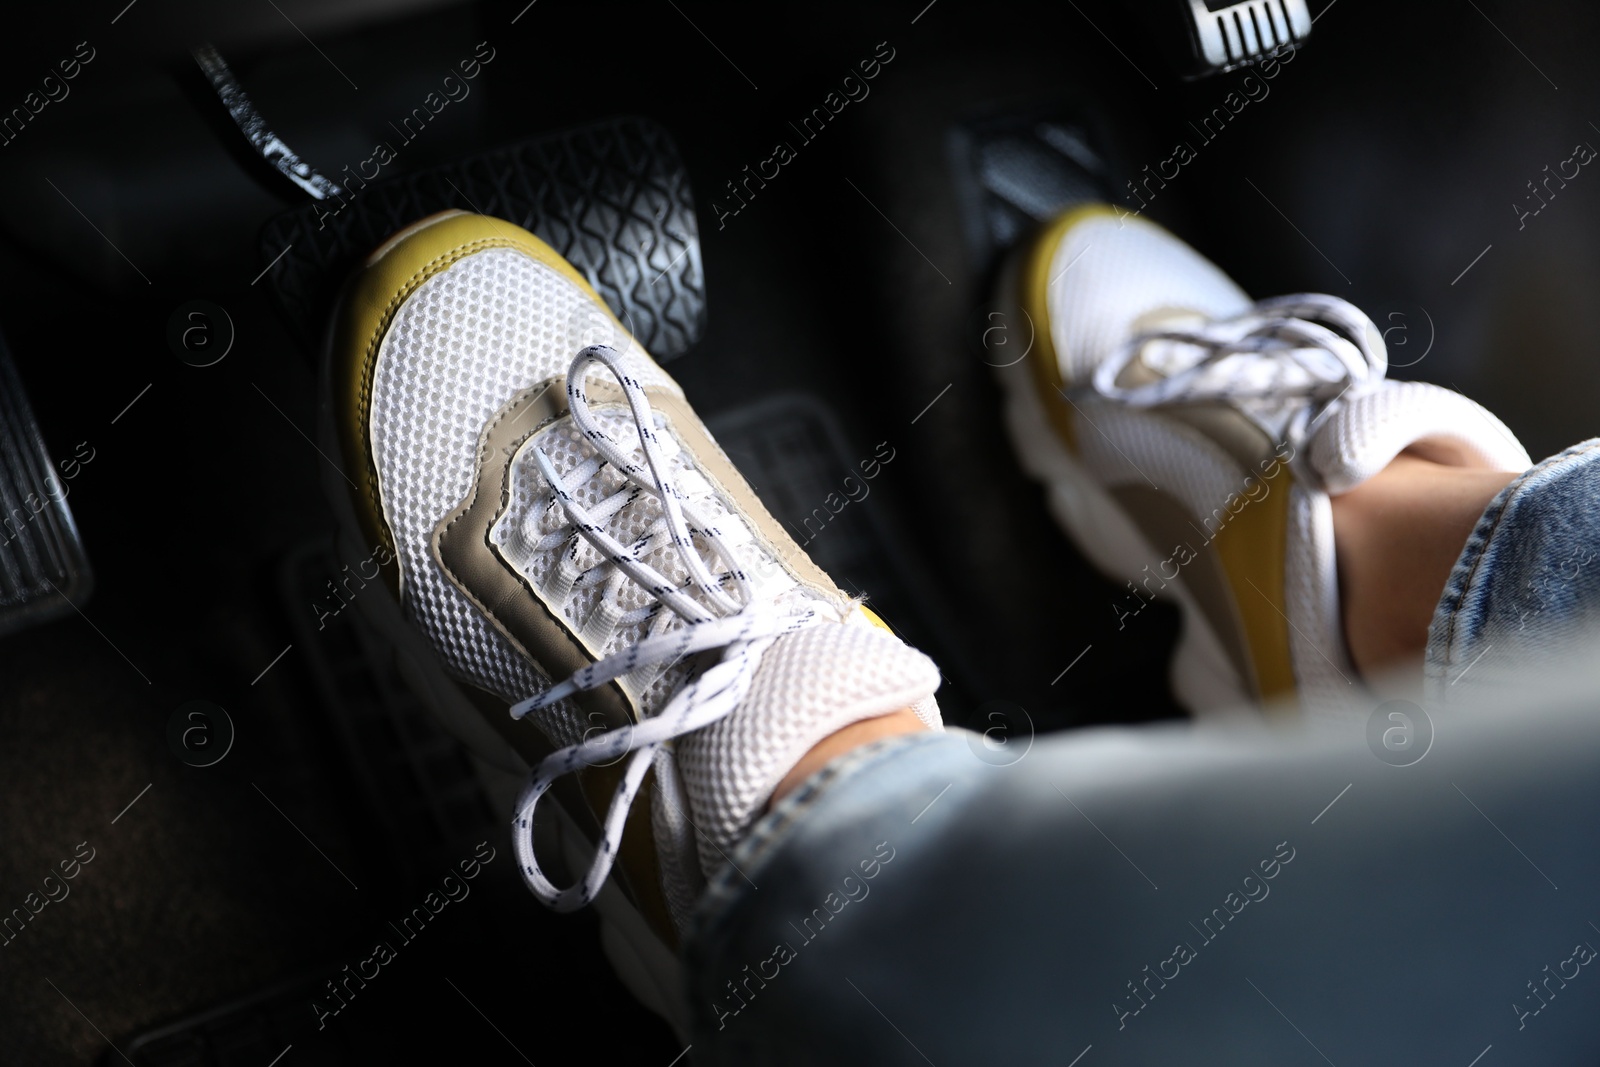
<svg viewBox="0 0 1600 1067"><path fill-rule="evenodd" d="M339 510L390 560L406 670L533 766L512 833L546 904L594 901L614 864L670 944L813 745L910 705L938 726L933 664L805 557L531 234L454 211L390 238L341 302L328 395ZM566 886L533 849L552 789L592 853Z"/></svg>

